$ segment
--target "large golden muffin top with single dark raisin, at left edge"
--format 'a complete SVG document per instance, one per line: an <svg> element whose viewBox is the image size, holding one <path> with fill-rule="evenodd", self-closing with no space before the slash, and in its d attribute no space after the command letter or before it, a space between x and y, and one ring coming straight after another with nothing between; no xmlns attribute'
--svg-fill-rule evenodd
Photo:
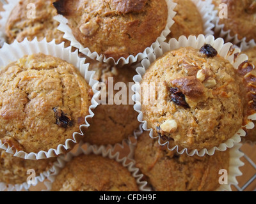
<svg viewBox="0 0 256 204"><path fill-rule="evenodd" d="M56 149L84 124L92 90L61 59L34 54L0 73L0 140L25 152Z"/></svg>

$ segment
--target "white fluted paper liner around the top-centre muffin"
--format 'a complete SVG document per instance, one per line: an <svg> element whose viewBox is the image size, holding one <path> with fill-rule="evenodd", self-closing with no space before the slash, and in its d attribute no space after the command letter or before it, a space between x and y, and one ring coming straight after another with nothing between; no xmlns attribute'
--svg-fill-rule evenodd
<svg viewBox="0 0 256 204"><path fill-rule="evenodd" d="M67 25L68 20L67 18L63 17L62 15L57 15L54 17L55 20L60 22L60 25L58 29L62 31L64 34L63 38L66 40L69 40L72 47L76 47L79 49L79 52L83 53L84 55L87 55L91 59L96 59L100 62L107 62L109 64L118 64L120 66L123 66L124 64L131 64L132 62L138 62L141 61L141 59L144 59L147 56L148 52L151 52L154 47L158 47L161 42L166 40L166 36L170 33L170 27L172 27L174 21L172 20L175 16L176 12L173 11L173 8L175 8L176 3L173 3L172 0L166 0L166 3L168 5L168 19L165 29L162 31L161 35L157 38L156 42L152 43L150 47L145 48L143 53L139 53L136 56L129 55L126 59L124 57L121 57L117 61L113 59L113 57L106 57L104 54L98 54L97 52L91 52L90 48L84 47L79 43L79 41L76 40L74 35L72 34L72 30Z"/></svg>

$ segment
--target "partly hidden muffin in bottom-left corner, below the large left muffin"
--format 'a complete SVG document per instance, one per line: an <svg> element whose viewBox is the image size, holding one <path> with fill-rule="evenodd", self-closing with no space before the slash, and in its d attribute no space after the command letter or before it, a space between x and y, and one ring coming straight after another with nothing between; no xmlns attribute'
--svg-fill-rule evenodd
<svg viewBox="0 0 256 204"><path fill-rule="evenodd" d="M28 179L28 170L35 170L36 177L49 170L52 167L56 158L28 160L14 157L13 154L8 154L4 150L0 150L0 183L5 184L22 184Z"/></svg>

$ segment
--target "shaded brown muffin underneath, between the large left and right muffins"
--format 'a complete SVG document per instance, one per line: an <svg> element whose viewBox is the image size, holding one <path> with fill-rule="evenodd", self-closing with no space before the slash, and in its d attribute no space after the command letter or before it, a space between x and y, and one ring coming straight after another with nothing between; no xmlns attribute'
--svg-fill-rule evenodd
<svg viewBox="0 0 256 204"><path fill-rule="evenodd" d="M95 115L92 120L88 120L90 127L85 131L84 142L92 143L93 145L120 143L125 138L128 138L129 135L132 135L133 131L140 125L140 122L136 119L138 113L133 109L133 103L129 105L133 93L131 84L129 87L129 82L132 82L132 77L136 75L136 71L129 66L116 68L106 63L88 59L86 62L90 62L89 70L96 72L95 80L99 80L102 85L106 86L106 89L104 89L106 91L106 103L100 104L93 111ZM108 89L113 89L115 85L118 85L116 84L118 82L122 82L120 85L125 87L122 87L122 89L118 87L117 91L113 90L113 96L111 97L112 94L108 92ZM122 98L127 97L124 100L127 105L116 105L115 101L113 101L113 105L109 104L108 96L113 99L121 90L126 91L125 96L122 96Z"/></svg>

